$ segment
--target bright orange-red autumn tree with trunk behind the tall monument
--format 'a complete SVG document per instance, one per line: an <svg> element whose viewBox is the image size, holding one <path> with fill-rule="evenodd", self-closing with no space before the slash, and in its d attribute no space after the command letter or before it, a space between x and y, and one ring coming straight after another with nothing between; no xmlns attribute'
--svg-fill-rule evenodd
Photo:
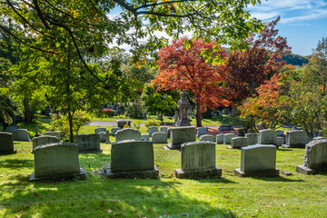
<svg viewBox="0 0 327 218"><path fill-rule="evenodd" d="M188 43L191 45L187 49ZM197 126L202 126L202 113L207 108L214 109L229 103L223 98L226 68L223 64L207 63L203 56L203 51L212 52L214 46L219 45L215 45L214 41L207 44L203 40L182 38L158 53L160 73L153 81L157 90L190 90L195 96ZM214 52L213 56L223 59L226 54L219 48L220 51Z"/></svg>

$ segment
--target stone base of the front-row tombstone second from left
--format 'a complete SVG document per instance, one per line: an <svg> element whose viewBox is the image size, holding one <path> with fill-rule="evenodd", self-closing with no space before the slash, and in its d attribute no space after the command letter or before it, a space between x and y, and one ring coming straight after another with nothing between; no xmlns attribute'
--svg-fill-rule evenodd
<svg viewBox="0 0 327 218"><path fill-rule="evenodd" d="M159 169L154 165L154 170L144 170L144 171L128 171L128 172L118 172L113 173L110 168L104 171L104 176L108 179L159 179Z"/></svg>

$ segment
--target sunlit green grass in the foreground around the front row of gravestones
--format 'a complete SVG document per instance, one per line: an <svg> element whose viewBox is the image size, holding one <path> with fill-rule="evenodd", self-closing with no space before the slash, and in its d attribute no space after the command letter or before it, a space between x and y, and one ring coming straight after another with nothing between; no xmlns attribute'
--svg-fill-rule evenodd
<svg viewBox="0 0 327 218"><path fill-rule="evenodd" d="M277 151L277 168L292 176L239 178L240 150L219 144L223 176L183 180L173 176L180 152L154 144L159 180L111 180L96 174L110 163L111 145L101 146L102 154L79 155L86 181L30 183L32 143L15 142L17 154L0 156L0 217L326 217L327 173L295 173L304 149Z"/></svg>

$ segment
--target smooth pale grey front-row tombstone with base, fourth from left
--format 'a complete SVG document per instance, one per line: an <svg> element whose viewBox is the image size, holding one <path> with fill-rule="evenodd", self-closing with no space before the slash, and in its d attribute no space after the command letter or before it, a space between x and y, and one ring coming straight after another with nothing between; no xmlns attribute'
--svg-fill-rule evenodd
<svg viewBox="0 0 327 218"><path fill-rule="evenodd" d="M236 176L279 176L276 168L276 146L255 144L241 148L241 168L235 169Z"/></svg>

